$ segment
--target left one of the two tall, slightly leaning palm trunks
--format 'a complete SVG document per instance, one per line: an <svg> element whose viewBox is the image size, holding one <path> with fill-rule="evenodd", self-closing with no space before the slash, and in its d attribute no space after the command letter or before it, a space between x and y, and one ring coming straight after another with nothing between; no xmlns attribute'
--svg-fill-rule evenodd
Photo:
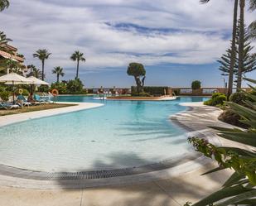
<svg viewBox="0 0 256 206"><path fill-rule="evenodd" d="M233 80L234 80L234 63L235 63L235 36L237 30L237 12L238 12L239 0L234 1L234 18L233 18L233 37L232 37L232 49L231 49L231 60L230 60L230 69L229 69L229 89L228 89L228 98L233 90Z"/></svg>

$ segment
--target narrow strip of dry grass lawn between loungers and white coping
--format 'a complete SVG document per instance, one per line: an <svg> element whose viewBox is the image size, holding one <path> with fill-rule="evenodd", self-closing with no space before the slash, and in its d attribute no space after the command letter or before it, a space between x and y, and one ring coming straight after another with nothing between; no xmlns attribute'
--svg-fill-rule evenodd
<svg viewBox="0 0 256 206"><path fill-rule="evenodd" d="M11 110L1 109L0 116L16 114L16 113L29 113L29 112L41 111L41 110L46 110L51 108L65 108L65 107L70 107L75 105L76 104L48 103L48 104L41 104L41 105L29 106L29 107L23 107L23 108L11 109Z"/></svg>

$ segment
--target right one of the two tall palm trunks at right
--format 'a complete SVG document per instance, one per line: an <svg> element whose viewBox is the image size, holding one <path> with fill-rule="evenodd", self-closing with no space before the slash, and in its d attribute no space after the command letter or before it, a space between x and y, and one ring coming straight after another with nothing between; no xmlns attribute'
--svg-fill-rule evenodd
<svg viewBox="0 0 256 206"><path fill-rule="evenodd" d="M239 71L237 77L237 91L242 87L242 71L244 67L244 0L240 0L240 25L239 25Z"/></svg>

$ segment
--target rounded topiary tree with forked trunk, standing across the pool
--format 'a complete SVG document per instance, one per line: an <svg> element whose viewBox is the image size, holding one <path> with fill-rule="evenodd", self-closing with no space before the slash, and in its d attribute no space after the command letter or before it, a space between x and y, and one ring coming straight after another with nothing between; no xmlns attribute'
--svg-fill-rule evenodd
<svg viewBox="0 0 256 206"><path fill-rule="evenodd" d="M140 63L130 63L128 65L127 74L129 76L133 76L137 85L137 92L143 92L144 81L146 78L146 70L144 66ZM142 79L141 79L142 78Z"/></svg>

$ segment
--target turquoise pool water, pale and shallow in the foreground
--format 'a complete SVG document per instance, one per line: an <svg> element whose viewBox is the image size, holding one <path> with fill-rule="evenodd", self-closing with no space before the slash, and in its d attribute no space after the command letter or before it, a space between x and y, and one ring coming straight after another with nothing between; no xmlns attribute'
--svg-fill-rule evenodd
<svg viewBox="0 0 256 206"><path fill-rule="evenodd" d="M44 171L107 170L144 165L188 152L186 132L169 120L185 110L174 101L102 101L62 96L58 101L103 107L0 127L0 164Z"/></svg>

